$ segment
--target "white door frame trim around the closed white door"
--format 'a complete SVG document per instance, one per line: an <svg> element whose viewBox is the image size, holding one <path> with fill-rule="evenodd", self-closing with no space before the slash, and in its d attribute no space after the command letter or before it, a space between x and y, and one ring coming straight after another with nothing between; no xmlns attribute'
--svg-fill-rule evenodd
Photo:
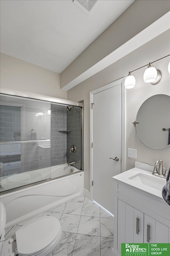
<svg viewBox="0 0 170 256"><path fill-rule="evenodd" d="M125 129L126 129L126 91L125 91L125 77L120 78L112 83L109 83L108 85L104 85L94 91L90 92L90 199L93 200L93 148L92 148L92 142L93 142L93 110L92 110L92 103L93 103L93 95L96 93L99 93L101 91L107 90L111 87L114 87L116 85L121 86L121 173L125 171Z"/></svg>

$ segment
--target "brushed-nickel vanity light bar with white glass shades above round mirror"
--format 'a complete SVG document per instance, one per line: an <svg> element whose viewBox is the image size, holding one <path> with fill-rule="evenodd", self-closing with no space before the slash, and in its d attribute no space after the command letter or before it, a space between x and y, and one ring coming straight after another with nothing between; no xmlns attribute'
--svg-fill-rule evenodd
<svg viewBox="0 0 170 256"><path fill-rule="evenodd" d="M158 62L162 59L165 59L169 56L170 56L170 54L163 58L157 59L156 61L149 62L149 65L147 64L147 65L143 66L143 67L147 67L147 69L145 70L145 72L143 74L143 80L145 83L151 83L152 85L156 85L157 83L159 83L159 81L161 80L161 77L162 77L161 71L156 69L152 64L155 62ZM126 89L132 89L135 86L136 81L135 81L135 77L132 75L132 73L139 69L142 69L143 67L139 67L138 69L129 71L129 74L125 79L125 88ZM170 62L168 65L168 72L170 74Z"/></svg>

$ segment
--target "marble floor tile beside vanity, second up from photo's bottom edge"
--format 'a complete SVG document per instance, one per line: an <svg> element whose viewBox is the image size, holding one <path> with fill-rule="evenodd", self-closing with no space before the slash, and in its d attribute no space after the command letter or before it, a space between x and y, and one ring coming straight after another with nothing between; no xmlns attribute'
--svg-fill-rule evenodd
<svg viewBox="0 0 170 256"><path fill-rule="evenodd" d="M100 218L100 236L113 238L114 219Z"/></svg>

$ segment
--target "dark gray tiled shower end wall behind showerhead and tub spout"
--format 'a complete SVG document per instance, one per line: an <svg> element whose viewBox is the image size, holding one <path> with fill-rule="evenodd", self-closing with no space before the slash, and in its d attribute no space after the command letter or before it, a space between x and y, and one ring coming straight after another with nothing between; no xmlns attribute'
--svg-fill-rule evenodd
<svg viewBox="0 0 170 256"><path fill-rule="evenodd" d="M67 163L75 162L75 167L81 169L81 109L73 107L67 111ZM70 152L71 146L76 147L75 153Z"/></svg>

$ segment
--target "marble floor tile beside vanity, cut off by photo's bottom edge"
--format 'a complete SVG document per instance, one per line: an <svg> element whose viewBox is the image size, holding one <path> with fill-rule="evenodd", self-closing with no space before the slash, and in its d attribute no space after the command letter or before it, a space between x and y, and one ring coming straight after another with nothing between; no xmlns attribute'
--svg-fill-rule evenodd
<svg viewBox="0 0 170 256"><path fill-rule="evenodd" d="M114 256L113 253L113 238L100 237L100 253L101 256Z"/></svg>

